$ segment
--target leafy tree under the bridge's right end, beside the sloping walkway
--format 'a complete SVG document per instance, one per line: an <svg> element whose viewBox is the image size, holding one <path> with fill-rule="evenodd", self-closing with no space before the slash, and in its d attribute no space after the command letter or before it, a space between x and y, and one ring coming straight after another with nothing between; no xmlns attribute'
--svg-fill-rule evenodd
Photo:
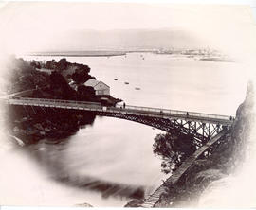
<svg viewBox="0 0 256 210"><path fill-rule="evenodd" d="M195 151L192 135L179 131L174 133L157 134L153 144L153 152L162 158L162 171L169 173Z"/></svg>

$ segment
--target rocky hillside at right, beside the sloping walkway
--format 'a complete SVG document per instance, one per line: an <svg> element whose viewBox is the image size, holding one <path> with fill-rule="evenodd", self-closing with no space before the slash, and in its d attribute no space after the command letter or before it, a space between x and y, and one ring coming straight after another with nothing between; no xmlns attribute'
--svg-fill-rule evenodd
<svg viewBox="0 0 256 210"><path fill-rule="evenodd" d="M204 190L214 181L228 177L243 165L248 139L255 124L254 91L251 82L247 85L245 101L238 107L235 121L220 144L211 148L210 156L201 155L172 185L166 185L166 192L155 207L197 207ZM139 207L142 200L133 200L125 207Z"/></svg>

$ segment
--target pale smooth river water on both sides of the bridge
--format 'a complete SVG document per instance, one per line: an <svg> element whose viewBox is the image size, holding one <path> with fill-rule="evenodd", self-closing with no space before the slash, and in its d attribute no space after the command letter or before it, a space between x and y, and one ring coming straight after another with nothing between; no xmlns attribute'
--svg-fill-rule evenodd
<svg viewBox="0 0 256 210"><path fill-rule="evenodd" d="M61 58L25 57L41 61ZM108 84L112 96L129 105L234 115L246 94L247 74L242 74L246 69L238 62L153 53L66 59L89 65L90 74ZM4 168L11 173L15 166L23 166L24 172L11 185L15 188L20 181L24 187L15 189L22 199L9 199L9 192L2 203L123 206L131 199L82 185L89 180L150 193L166 178L160 171L161 160L152 151L155 135L161 132L135 122L96 117L93 125L81 128L62 144L51 145L45 139L25 150L9 147L12 155L6 158L12 165ZM31 179L27 181L27 177ZM60 182L64 177L68 180Z"/></svg>

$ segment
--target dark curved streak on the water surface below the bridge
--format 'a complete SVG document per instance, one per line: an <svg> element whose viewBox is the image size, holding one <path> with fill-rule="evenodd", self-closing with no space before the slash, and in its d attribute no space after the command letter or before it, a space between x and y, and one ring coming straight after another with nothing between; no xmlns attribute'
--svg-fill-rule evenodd
<svg viewBox="0 0 256 210"><path fill-rule="evenodd" d="M70 137L55 141L44 139L36 145L30 145L27 152L31 155L31 159L36 160L41 167L48 171L53 180L67 186L101 192L102 198L114 196L120 199L123 197L141 199L144 197L145 186L108 182L92 176L77 174L76 171L68 171L64 166L66 163L63 161L64 153L62 152L67 150L69 141ZM71 164L76 167L76 163Z"/></svg>

